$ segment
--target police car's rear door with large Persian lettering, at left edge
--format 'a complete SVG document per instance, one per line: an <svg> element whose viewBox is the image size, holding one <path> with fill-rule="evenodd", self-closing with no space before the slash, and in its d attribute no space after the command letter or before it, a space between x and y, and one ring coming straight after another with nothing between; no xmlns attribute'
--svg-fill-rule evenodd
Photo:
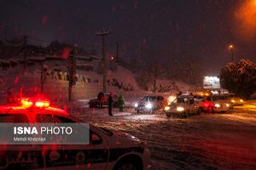
<svg viewBox="0 0 256 170"><path fill-rule="evenodd" d="M26 114L0 115L0 123L18 125L17 123L28 123L28 120ZM4 135L1 138L4 138ZM44 168L41 150L42 147L38 144L0 144L0 169Z"/></svg>

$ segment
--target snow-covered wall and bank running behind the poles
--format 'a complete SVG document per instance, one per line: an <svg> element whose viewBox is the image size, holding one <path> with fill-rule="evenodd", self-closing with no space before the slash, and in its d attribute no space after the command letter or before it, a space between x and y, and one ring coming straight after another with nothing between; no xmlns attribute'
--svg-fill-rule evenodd
<svg viewBox="0 0 256 170"><path fill-rule="evenodd" d="M14 60L14 59L13 59ZM73 86L73 99L90 99L97 96L102 91L102 74L96 73L96 67L99 61L84 61L78 60L79 65L93 65L93 71L81 71L77 70L77 77L79 82ZM17 60L17 63L18 60ZM48 60L44 61L44 65L48 68L47 81L44 84L44 94L46 97L52 100L67 101L68 99L68 81L67 81L67 60ZM0 101L5 101L6 92L8 88L13 88L15 94L20 93L20 87L22 87L22 93L30 96L41 92L41 65L39 63L33 63L27 65L26 71L22 64L15 67L11 67L5 71L0 72ZM24 76L23 76L24 75ZM86 79L86 81L85 81ZM153 94L152 92L143 91L137 86L135 75L125 69L122 66L117 66L117 71L107 71L107 79L110 81L107 83L107 91L112 91L114 94L125 94L125 98L128 100L137 100L142 95ZM113 85L113 79L117 80L122 87ZM90 80L90 81L88 81ZM172 87L172 93L177 91L189 90L189 85L183 82L157 80L157 87ZM127 90L128 89L128 90ZM132 90L132 91L130 91ZM170 93L158 93L161 95L167 95Z"/></svg>

